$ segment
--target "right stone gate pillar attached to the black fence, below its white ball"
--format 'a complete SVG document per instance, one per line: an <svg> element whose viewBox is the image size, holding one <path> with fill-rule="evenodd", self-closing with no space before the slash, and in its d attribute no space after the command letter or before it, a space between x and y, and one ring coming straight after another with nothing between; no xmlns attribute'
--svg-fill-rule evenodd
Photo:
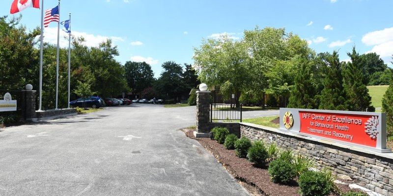
<svg viewBox="0 0 393 196"><path fill-rule="evenodd" d="M210 137L210 91L197 91L197 131L195 137Z"/></svg>

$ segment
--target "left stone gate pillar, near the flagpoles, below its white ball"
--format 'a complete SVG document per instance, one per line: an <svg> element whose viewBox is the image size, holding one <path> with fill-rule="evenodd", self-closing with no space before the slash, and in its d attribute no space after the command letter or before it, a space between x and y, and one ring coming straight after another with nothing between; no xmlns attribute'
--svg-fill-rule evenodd
<svg viewBox="0 0 393 196"><path fill-rule="evenodd" d="M23 118L28 122L36 121L37 116L35 114L35 93L36 91L32 90L23 90L23 110L24 115Z"/></svg>

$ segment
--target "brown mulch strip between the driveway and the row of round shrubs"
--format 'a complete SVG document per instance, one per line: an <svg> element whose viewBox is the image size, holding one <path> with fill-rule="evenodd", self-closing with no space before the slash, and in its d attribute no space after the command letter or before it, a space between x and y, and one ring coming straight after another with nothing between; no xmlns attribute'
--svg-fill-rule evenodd
<svg viewBox="0 0 393 196"><path fill-rule="evenodd" d="M270 180L267 167L253 167L253 164L247 159L237 157L234 150L225 149L224 145L219 144L215 140L211 140L210 138L195 138L193 134L195 128L182 129L182 131L186 133L187 137L197 140L204 148L210 151L217 158L218 162L241 182L240 184L244 185L244 183L247 183L247 186L244 187L253 196L300 196L297 182L294 181L291 185L273 183ZM352 182L345 183L351 184ZM337 187L343 192L350 190L348 185L337 184ZM339 195L332 194L331 196Z"/></svg>

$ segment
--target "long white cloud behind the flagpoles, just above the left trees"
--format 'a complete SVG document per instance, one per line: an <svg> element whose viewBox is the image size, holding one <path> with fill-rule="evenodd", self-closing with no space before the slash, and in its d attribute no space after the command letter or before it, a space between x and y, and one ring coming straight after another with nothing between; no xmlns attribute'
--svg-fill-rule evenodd
<svg viewBox="0 0 393 196"><path fill-rule="evenodd" d="M87 47L97 47L101 42L107 39L112 39L113 42L123 42L124 39L121 37L106 37L102 35L88 34L85 32L72 31L71 35L75 37L84 37L85 42L83 43ZM64 38L66 37L66 39ZM57 28L47 27L44 29L44 42L57 45ZM61 48L68 47L68 33L60 30L59 45Z"/></svg>

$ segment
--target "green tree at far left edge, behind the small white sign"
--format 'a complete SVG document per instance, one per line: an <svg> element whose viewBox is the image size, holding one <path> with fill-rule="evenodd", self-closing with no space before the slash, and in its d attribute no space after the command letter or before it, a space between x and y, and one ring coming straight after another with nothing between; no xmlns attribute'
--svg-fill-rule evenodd
<svg viewBox="0 0 393 196"><path fill-rule="evenodd" d="M19 25L22 15L0 17L0 89L21 90L26 84L39 88L39 28Z"/></svg>

